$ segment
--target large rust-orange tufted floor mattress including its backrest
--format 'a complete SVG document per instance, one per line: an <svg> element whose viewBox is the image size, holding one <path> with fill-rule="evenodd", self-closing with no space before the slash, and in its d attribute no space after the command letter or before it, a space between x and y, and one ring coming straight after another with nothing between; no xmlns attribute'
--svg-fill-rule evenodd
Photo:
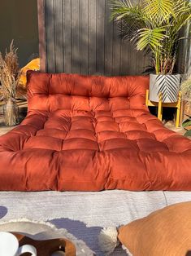
<svg viewBox="0 0 191 256"><path fill-rule="evenodd" d="M28 115L0 137L0 190L191 190L191 141L145 107L148 77L28 73Z"/></svg>

